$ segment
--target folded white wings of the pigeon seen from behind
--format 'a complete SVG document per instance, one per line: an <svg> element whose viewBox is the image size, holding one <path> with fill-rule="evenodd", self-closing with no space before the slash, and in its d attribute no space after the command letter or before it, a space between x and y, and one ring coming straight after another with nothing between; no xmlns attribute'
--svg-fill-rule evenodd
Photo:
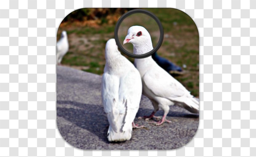
<svg viewBox="0 0 256 157"><path fill-rule="evenodd" d="M142 94L138 71L134 68L121 78L104 73L101 92L109 124L115 132L126 131L138 112Z"/></svg>

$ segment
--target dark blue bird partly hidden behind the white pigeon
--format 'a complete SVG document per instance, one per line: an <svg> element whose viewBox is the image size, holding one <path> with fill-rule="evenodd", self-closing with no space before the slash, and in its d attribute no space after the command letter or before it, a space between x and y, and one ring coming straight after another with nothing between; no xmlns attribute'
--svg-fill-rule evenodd
<svg viewBox="0 0 256 157"><path fill-rule="evenodd" d="M152 54L152 58L155 60L155 62L162 67L165 71L168 73L178 73L181 74L182 69L181 67L175 65L174 63L171 63L168 59L165 59L163 57L160 57L157 55L157 52Z"/></svg>

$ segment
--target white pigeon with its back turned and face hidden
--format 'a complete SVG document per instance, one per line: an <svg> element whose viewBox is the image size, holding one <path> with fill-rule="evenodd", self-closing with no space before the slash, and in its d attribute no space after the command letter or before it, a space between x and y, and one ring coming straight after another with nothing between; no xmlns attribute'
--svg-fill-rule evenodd
<svg viewBox="0 0 256 157"><path fill-rule="evenodd" d="M130 140L142 94L138 70L118 51L115 39L105 48L106 64L101 82L101 98L109 121L108 140Z"/></svg>

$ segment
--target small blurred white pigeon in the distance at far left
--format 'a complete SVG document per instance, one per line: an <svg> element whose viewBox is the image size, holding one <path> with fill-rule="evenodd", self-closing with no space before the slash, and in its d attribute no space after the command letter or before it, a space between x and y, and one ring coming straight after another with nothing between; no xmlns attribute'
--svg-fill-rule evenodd
<svg viewBox="0 0 256 157"><path fill-rule="evenodd" d="M68 35L63 31L60 40L57 42L57 63L60 65L62 58L68 52Z"/></svg>

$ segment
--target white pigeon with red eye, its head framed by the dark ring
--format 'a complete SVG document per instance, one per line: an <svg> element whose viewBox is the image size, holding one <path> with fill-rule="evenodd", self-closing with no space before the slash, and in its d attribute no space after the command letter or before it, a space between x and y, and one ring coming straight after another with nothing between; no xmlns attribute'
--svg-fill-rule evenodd
<svg viewBox="0 0 256 157"><path fill-rule="evenodd" d="M132 43L133 53L137 55L145 54L153 49L151 37L148 31L142 26L132 26L129 28L123 44ZM163 68L152 59L151 56L134 60L134 65L138 69L142 79L142 94L147 96L154 106L154 111L150 116L144 116L146 120L155 117L154 114L163 109L164 115L156 125L163 124L169 112L170 105L179 105L192 113L199 112L199 101L176 79L169 75Z"/></svg>

